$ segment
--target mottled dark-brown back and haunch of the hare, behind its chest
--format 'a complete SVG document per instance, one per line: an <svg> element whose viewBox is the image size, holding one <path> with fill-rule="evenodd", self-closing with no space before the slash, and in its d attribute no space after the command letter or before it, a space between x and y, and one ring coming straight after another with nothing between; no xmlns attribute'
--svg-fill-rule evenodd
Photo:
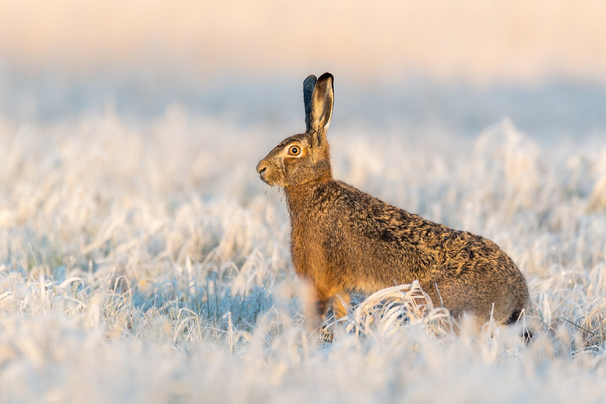
<svg viewBox="0 0 606 404"><path fill-rule="evenodd" d="M432 300L444 300L453 314L484 318L494 303L501 322L527 306L524 276L490 239L431 222L345 183L336 182L331 191L339 201L334 214L350 228L339 232L345 239L335 239L333 248L347 246L349 254L338 254L342 265L364 271L371 285L418 279Z"/></svg>

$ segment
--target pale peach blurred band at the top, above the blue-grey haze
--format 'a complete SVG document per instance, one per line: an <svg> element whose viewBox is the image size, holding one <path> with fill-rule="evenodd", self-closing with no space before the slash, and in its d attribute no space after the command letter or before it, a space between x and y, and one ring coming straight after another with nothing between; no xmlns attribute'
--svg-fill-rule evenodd
<svg viewBox="0 0 606 404"><path fill-rule="evenodd" d="M0 0L0 65L606 82L606 2Z"/></svg>

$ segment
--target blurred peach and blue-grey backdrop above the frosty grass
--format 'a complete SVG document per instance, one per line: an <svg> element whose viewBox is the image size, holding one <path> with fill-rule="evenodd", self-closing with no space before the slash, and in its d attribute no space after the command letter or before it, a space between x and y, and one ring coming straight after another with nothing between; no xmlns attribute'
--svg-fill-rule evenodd
<svg viewBox="0 0 606 404"><path fill-rule="evenodd" d="M606 3L0 1L0 113L179 116L303 128L301 84L335 75L333 125L603 133ZM290 126L289 126L290 127Z"/></svg>

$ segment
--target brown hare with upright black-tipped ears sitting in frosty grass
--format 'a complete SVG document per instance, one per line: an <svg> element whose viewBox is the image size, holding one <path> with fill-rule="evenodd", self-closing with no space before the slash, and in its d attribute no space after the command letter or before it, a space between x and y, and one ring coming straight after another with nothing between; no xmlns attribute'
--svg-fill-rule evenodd
<svg viewBox="0 0 606 404"><path fill-rule="evenodd" d="M333 110L333 76L303 82L305 133L280 142L257 165L261 180L284 188L295 271L310 285L321 323L328 305L348 313L349 293L374 293L419 280L451 316L516 322L529 303L528 286L498 245L389 205L333 179L326 130Z"/></svg>

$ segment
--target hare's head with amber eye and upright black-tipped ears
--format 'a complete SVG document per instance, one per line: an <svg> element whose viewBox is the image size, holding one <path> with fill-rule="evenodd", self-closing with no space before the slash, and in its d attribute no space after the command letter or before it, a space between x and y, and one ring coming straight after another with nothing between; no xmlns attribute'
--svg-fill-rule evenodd
<svg viewBox="0 0 606 404"><path fill-rule="evenodd" d="M303 82L305 133L280 142L257 164L269 185L292 187L332 178L326 130L333 113L333 75L308 76Z"/></svg>

